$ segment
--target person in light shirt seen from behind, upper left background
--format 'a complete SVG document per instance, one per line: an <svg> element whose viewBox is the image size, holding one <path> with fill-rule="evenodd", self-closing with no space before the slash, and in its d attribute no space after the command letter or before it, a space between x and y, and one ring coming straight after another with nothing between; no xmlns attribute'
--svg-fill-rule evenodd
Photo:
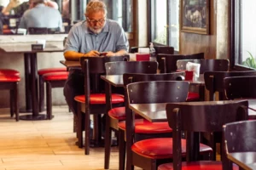
<svg viewBox="0 0 256 170"><path fill-rule="evenodd" d="M20 20L20 28L47 27L62 29L61 13L46 6L44 0L30 0L31 8L26 10Z"/></svg>

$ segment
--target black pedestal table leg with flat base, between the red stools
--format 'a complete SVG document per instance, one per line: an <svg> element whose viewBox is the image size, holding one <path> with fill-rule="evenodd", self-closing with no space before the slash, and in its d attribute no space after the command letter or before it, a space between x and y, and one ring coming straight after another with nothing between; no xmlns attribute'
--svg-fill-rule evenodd
<svg viewBox="0 0 256 170"><path fill-rule="evenodd" d="M47 119L46 115L39 115L39 107L38 107L38 62L37 62L37 54L24 54L25 58L30 59L30 68L25 68L27 71L30 71L26 74L26 98L30 99L29 102L32 103L32 115L24 115L20 116L20 120L45 120ZM29 62L28 62L29 63ZM27 63L26 63L27 66Z"/></svg>

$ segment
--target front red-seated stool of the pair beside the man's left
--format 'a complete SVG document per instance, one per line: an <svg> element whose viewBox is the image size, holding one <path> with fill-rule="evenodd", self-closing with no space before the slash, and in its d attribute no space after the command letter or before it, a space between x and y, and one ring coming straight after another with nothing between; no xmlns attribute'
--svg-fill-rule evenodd
<svg viewBox="0 0 256 170"><path fill-rule="evenodd" d="M67 77L68 71L50 72L42 77L43 84L46 82L46 113L49 120L52 118L51 89L64 87Z"/></svg>

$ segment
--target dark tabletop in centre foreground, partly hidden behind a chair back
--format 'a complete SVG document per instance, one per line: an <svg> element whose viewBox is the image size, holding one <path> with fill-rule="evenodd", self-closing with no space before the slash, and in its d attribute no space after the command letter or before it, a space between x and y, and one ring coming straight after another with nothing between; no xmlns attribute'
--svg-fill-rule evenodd
<svg viewBox="0 0 256 170"><path fill-rule="evenodd" d="M204 101L205 104L221 104L226 101ZM196 105L198 102L186 102L190 105ZM250 118L253 118L253 116L256 116L256 99L249 99L248 100L249 109L248 114ZM135 111L140 116L143 116L145 119L147 119L149 122L163 122L167 121L166 117L166 103L154 103L154 104L130 104L130 109L132 111Z"/></svg>

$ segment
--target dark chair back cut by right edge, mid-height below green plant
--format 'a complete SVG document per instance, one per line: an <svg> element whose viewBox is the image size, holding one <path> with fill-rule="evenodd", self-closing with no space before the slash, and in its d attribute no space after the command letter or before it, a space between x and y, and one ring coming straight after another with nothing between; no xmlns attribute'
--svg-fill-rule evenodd
<svg viewBox="0 0 256 170"><path fill-rule="evenodd" d="M256 76L224 78L224 93L227 99L256 98Z"/></svg>

